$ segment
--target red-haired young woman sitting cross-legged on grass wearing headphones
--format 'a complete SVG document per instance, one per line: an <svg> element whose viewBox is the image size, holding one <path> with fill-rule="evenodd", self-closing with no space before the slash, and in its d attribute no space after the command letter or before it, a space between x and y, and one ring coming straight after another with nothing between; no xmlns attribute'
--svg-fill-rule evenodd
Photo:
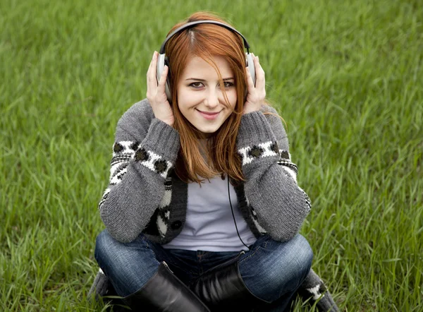
<svg viewBox="0 0 423 312"><path fill-rule="evenodd" d="M312 264L310 202L259 57L209 13L169 34L118 121L94 256L134 311L283 311Z"/></svg>

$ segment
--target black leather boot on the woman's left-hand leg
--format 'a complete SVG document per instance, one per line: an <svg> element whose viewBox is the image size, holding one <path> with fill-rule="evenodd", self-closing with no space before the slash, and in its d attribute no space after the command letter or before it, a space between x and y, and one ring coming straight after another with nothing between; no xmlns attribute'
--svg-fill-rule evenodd
<svg viewBox="0 0 423 312"><path fill-rule="evenodd" d="M163 261L142 289L124 298L133 311L209 312L209 308L173 275Z"/></svg>

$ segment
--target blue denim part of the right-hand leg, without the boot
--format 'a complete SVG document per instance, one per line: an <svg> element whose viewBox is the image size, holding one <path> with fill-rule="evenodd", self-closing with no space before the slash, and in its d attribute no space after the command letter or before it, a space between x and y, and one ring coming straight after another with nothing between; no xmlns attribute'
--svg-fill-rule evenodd
<svg viewBox="0 0 423 312"><path fill-rule="evenodd" d="M307 277L312 258L312 249L300 234L283 243L263 236L241 256L240 275L250 292L266 301L263 311L283 311Z"/></svg>

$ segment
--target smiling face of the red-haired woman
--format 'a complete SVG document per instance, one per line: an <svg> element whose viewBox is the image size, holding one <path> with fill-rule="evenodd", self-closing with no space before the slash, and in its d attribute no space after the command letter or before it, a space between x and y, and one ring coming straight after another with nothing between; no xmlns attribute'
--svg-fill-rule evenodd
<svg viewBox="0 0 423 312"><path fill-rule="evenodd" d="M225 84L229 106L221 91L219 76L200 57L188 61L177 86L180 112L205 136L219 130L233 112L237 100L235 77L228 62L221 56L214 56L213 60Z"/></svg>

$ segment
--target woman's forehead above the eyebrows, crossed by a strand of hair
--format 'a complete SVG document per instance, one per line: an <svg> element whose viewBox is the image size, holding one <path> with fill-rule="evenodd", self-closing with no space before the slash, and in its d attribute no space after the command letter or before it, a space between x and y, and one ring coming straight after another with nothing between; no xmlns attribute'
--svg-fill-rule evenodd
<svg viewBox="0 0 423 312"><path fill-rule="evenodd" d="M214 63L221 73L222 78L229 78L232 76L231 67L228 61L222 56L213 56ZM187 66L184 68L183 79L186 78L218 78L216 70L212 65L204 61L201 57L194 56L188 59Z"/></svg>

